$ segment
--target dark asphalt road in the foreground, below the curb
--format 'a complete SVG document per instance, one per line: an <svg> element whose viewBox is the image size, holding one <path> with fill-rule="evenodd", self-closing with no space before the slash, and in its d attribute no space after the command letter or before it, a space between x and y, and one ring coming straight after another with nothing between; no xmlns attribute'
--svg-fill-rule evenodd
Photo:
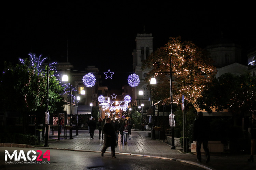
<svg viewBox="0 0 256 170"><path fill-rule="evenodd" d="M6 155L7 160L5 161L5 150L7 150L12 156L14 150L17 150L17 159L19 155L21 156L19 161L15 161L15 155L12 160ZM24 161L23 154L21 150L24 151ZM28 151L37 150L42 151L42 155L39 156L39 151L36 154L30 153L29 158L32 155L37 155L37 158L42 158L42 161L28 160ZM110 153L105 153L102 157L100 152L75 152L67 150L50 150L50 160L43 158L43 154L47 149L34 149L34 148L14 148L14 147L0 147L0 169L1 170L34 170L34 169L51 169L51 170L200 170L202 168L190 165L187 163L177 162L174 160L164 160L158 158L140 157L140 156L130 156L117 154L117 158L112 158ZM47 156L47 155L46 155ZM21 164L20 164L21 163Z"/></svg>

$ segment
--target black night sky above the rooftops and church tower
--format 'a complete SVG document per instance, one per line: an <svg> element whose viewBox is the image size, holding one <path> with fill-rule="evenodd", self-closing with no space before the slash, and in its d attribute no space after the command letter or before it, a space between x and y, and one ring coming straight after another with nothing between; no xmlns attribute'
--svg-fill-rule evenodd
<svg viewBox="0 0 256 170"><path fill-rule="evenodd" d="M248 50L256 44L253 6L146 0L11 2L1 11L1 63L3 59L17 62L18 57L26 58L29 52L67 62L68 50L68 61L74 69L83 71L87 65L96 65L100 72L110 69L120 77L125 75L123 72L132 72L131 54L143 26L153 33L154 49L164 46L172 36L192 40L204 48L221 38L223 32L224 38Z"/></svg>

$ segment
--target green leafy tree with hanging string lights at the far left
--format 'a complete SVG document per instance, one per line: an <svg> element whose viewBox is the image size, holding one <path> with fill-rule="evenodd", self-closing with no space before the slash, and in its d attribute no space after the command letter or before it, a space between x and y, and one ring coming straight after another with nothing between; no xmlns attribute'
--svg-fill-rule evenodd
<svg viewBox="0 0 256 170"><path fill-rule="evenodd" d="M47 66L38 69L37 64L31 65L28 59L21 64L7 64L1 75L0 95L3 112L13 111L22 114L23 124L27 125L28 114L44 115L46 107ZM49 72L49 107L50 113L63 111L63 99L60 97L63 88Z"/></svg>

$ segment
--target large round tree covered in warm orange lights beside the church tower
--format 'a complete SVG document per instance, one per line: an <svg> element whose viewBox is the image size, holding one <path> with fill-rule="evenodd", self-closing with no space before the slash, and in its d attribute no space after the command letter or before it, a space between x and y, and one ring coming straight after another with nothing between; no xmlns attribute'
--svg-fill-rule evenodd
<svg viewBox="0 0 256 170"><path fill-rule="evenodd" d="M149 85L154 101L170 103L170 60L174 78L173 101L181 103L184 95L186 100L194 103L205 84L210 82L216 73L214 67L209 64L210 58L191 41L171 37L164 47L157 49L143 62L143 68L152 68L145 81L149 82L153 76L158 81L154 86Z"/></svg>

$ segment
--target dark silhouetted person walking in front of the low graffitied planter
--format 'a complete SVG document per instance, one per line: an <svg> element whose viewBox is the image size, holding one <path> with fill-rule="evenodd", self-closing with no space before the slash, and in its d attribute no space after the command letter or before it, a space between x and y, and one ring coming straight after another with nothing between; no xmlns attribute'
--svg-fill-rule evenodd
<svg viewBox="0 0 256 170"><path fill-rule="evenodd" d="M197 113L198 118L193 125L193 138L197 142L197 162L201 162L201 144L203 143L203 149L206 156L206 163L210 161L210 153L208 149L208 139L210 134L210 123L204 119L203 113Z"/></svg>

